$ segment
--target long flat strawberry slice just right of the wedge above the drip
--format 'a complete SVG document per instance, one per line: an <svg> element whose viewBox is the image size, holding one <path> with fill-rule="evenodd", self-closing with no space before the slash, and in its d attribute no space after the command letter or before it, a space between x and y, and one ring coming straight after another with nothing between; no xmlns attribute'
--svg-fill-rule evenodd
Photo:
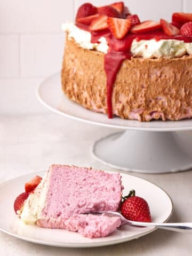
<svg viewBox="0 0 192 256"><path fill-rule="evenodd" d="M144 22L141 22L139 25L135 25L131 28L131 33L137 34L137 33L146 33L149 31L154 31L157 29L161 29L162 25L159 22L147 20Z"/></svg>

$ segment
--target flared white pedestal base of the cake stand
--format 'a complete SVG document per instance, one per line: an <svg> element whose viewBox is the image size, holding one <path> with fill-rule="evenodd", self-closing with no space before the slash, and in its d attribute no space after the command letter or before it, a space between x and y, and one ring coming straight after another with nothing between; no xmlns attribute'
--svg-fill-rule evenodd
<svg viewBox="0 0 192 256"><path fill-rule="evenodd" d="M96 141L93 156L115 169L140 173L169 173L192 168L192 158L174 132L125 131Z"/></svg>

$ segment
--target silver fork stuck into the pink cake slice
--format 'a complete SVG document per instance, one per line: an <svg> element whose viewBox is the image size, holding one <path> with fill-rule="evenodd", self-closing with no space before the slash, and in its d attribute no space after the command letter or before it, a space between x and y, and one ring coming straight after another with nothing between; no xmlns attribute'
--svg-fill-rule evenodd
<svg viewBox="0 0 192 256"><path fill-rule="evenodd" d="M162 229L168 229L172 231L177 231L181 233L192 233L192 222L183 222L183 223L154 223L154 222L138 222L127 220L123 217L123 215L119 212L96 212L91 213L94 215L105 214L109 217L120 217L122 221L122 225L132 225L132 226L140 226L140 227L156 227Z"/></svg>

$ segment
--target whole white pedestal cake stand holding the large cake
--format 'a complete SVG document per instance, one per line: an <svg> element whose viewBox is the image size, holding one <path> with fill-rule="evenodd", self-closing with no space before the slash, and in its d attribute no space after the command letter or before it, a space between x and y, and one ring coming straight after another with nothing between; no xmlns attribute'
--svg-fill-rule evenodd
<svg viewBox="0 0 192 256"><path fill-rule="evenodd" d="M57 114L86 123L122 129L122 132L96 141L92 148L92 155L110 167L141 173L179 172L192 168L189 149L185 146L182 134L178 133L192 130L192 119L149 123L118 117L108 119L104 114L93 113L68 100L61 91L59 73L39 85L37 97L43 105ZM192 136L189 140L192 141Z"/></svg>

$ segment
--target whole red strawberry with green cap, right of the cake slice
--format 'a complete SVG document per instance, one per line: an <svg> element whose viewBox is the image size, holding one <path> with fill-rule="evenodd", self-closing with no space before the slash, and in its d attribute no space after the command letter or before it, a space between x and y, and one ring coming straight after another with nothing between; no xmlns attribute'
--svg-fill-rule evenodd
<svg viewBox="0 0 192 256"><path fill-rule="evenodd" d="M123 199L121 213L127 220L151 222L149 205L145 199L135 196L134 190L131 190Z"/></svg>

